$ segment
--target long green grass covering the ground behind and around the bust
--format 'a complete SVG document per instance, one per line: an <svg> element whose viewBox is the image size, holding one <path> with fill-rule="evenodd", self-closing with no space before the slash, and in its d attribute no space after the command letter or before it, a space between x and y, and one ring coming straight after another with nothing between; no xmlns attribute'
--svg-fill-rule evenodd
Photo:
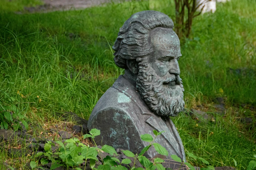
<svg viewBox="0 0 256 170"><path fill-rule="evenodd" d="M101 95L124 73L113 62L111 46L131 14L150 9L175 18L171 0L24 15L10 12L23 9L24 4L11 8L15 1L3 2L0 100L13 97L13 103L31 125L55 120L57 111L72 111L89 118ZM37 2L26 1L25 5ZM255 9L252 0L217 4L214 14L195 18L191 37L181 45L179 65L186 107L202 104L214 111L214 98L226 100L226 117L219 117L216 123L198 123L185 114L174 119L185 150L213 166L234 166L235 159L238 169L246 169L248 162L255 159L255 125L245 126L236 119L247 116L255 122L255 112L239 107L256 106ZM230 68L245 71L235 74ZM5 78L7 75L10 78ZM9 159L6 149L1 149L0 160L4 158ZM25 163L14 164L19 167Z"/></svg>

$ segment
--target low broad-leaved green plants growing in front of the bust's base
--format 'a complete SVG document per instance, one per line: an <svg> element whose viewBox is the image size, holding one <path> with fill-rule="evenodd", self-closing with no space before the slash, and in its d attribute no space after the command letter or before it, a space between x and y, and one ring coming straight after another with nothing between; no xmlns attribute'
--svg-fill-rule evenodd
<svg viewBox="0 0 256 170"><path fill-rule="evenodd" d="M158 135L161 135L162 132L157 132L156 130L153 131L154 137L149 134L141 135L141 139L145 142L149 142L149 145L142 149L139 154L134 154L129 150L122 150L122 152L129 158L123 159L121 162L115 156L117 152L111 146L104 145L102 148L98 148L97 144L95 143L95 136L100 135L100 131L97 129L92 129L90 134L83 135L84 138L91 138L92 142L96 147L91 147L90 145L84 145L81 143L77 138L67 139L64 143L57 141L59 144L59 149L57 152L52 153L51 146L54 145L51 142L48 142L44 145L44 153L38 152L36 157L40 157L41 164L46 164L51 162L52 166L51 169L55 169L62 165L69 167L76 167L79 166L81 163L86 163L90 159L90 168L93 170L127 170L127 167L130 170L143 170L143 168L136 167L136 163L139 161L146 170L165 170L161 163L164 162L161 158L155 158L152 162L147 159L144 153L150 148L154 147L159 154L168 156L167 150L162 147L158 143L154 143L154 140ZM103 157L103 152L107 152L110 155ZM174 160L178 160L181 162L181 159L176 156L172 155ZM133 160L133 161L131 161ZM102 164L99 165L97 168L95 167L96 161L100 161ZM191 164L185 163L187 166L194 168Z"/></svg>

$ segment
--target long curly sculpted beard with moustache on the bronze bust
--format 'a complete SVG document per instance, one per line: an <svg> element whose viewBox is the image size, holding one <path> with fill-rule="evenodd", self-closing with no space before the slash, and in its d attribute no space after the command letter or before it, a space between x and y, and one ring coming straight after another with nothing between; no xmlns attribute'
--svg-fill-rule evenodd
<svg viewBox="0 0 256 170"><path fill-rule="evenodd" d="M175 85L167 84L174 80ZM136 89L150 110L159 116L177 116L184 109L184 88L179 76L168 74L161 78L144 62L139 67Z"/></svg>

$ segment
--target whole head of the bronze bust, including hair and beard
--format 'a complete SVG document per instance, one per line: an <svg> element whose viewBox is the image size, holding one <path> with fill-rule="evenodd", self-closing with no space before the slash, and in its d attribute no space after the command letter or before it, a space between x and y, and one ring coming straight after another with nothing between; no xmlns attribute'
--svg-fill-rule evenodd
<svg viewBox="0 0 256 170"><path fill-rule="evenodd" d="M159 116L176 116L184 108L180 44L172 28L161 12L138 12L125 21L113 46L115 64L136 77L136 89Z"/></svg>

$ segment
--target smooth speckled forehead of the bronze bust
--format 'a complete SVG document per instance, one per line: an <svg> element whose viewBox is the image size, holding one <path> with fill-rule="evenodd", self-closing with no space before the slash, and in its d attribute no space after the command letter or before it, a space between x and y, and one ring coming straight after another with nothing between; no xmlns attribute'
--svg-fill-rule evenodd
<svg viewBox="0 0 256 170"><path fill-rule="evenodd" d="M181 56L179 37L172 29L156 28L149 37L151 48L159 55Z"/></svg>

